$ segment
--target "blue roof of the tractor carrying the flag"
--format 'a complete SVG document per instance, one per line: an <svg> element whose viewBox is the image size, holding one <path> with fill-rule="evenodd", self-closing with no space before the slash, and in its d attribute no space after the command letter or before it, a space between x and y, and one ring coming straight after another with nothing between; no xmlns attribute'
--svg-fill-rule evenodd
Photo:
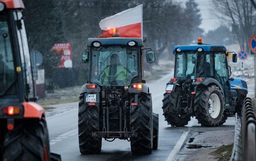
<svg viewBox="0 0 256 161"><path fill-rule="evenodd" d="M143 46L141 38L88 38L87 46L91 47L94 42L99 42L101 45L127 45L129 41L135 41L138 46Z"/></svg>

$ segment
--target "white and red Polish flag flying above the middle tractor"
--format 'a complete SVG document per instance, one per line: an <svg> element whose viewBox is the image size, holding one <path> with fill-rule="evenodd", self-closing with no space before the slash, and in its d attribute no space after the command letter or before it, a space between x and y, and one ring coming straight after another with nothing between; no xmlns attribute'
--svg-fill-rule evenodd
<svg viewBox="0 0 256 161"><path fill-rule="evenodd" d="M142 38L142 7L143 5L138 5L101 20L99 27L103 33L98 38L112 37L116 27L119 37Z"/></svg>

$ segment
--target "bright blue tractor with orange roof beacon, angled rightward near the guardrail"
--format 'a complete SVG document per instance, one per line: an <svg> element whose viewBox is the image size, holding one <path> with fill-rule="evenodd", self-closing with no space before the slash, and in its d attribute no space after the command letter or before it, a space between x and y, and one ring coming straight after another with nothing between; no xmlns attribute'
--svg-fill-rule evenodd
<svg viewBox="0 0 256 161"><path fill-rule="evenodd" d="M236 112L241 115L247 83L232 78L227 49L221 45L175 46L174 78L167 83L163 115L172 126L185 126L195 116L201 126L222 125ZM232 52L233 53L233 52ZM232 54L237 62L237 54Z"/></svg>

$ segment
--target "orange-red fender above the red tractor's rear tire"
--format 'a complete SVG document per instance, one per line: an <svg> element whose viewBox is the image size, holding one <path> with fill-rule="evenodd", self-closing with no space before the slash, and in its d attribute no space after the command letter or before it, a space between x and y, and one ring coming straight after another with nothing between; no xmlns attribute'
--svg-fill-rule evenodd
<svg viewBox="0 0 256 161"><path fill-rule="evenodd" d="M45 116L44 108L36 102L23 102L24 118L39 118Z"/></svg>

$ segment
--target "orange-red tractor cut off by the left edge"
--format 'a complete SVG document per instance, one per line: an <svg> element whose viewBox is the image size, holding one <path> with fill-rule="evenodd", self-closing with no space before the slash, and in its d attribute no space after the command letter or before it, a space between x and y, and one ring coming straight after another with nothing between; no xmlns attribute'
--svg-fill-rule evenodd
<svg viewBox="0 0 256 161"><path fill-rule="evenodd" d="M0 161L53 161L44 108L35 101L22 0L0 0Z"/></svg>

